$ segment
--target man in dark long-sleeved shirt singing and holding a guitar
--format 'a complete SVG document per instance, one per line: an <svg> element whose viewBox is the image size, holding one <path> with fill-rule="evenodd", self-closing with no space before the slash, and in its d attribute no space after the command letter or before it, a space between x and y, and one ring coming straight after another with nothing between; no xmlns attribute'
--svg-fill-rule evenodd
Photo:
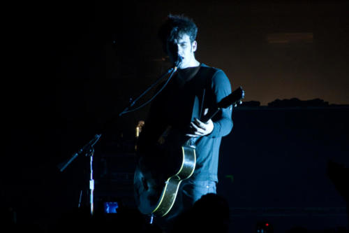
<svg viewBox="0 0 349 233"><path fill-rule="evenodd" d="M159 30L163 49L178 69L151 104L138 141L138 153L141 160L146 161L143 164L149 167L153 164L153 169L167 169L166 159L161 160L166 155L155 149L156 144L161 144L159 139L166 132L165 129L170 125L180 137L196 139L195 171L190 178L181 182L177 199L165 220L174 219L193 206L202 195L216 193L221 137L232 129L232 108L221 109L207 122L200 120L214 111L216 104L231 93L231 86L221 69L209 67L195 58L197 32L195 23L183 15L169 15ZM181 145L178 146L180 148Z"/></svg>

